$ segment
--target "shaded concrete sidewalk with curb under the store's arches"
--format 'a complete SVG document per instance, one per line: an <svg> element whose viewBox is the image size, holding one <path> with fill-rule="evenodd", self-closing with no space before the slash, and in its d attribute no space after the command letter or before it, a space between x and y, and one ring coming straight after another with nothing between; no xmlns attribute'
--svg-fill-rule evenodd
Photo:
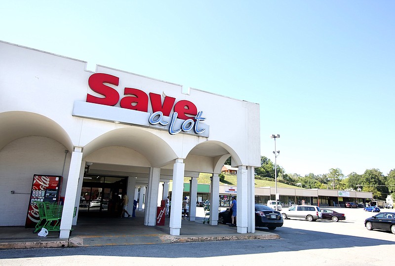
<svg viewBox="0 0 395 266"><path fill-rule="evenodd" d="M179 236L170 235L169 218L164 226L144 226L144 211L134 218L79 217L69 239L60 239L59 232L50 231L46 237L33 233L33 228L0 227L0 249L44 247L90 247L107 245L144 245L198 241L278 239L268 229L240 234L236 227L203 224L203 218L195 222L182 220Z"/></svg>

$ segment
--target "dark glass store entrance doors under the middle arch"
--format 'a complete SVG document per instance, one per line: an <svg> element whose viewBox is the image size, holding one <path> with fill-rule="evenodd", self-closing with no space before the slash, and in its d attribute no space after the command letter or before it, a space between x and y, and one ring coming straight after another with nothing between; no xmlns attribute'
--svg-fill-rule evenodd
<svg viewBox="0 0 395 266"><path fill-rule="evenodd" d="M127 177L90 176L83 178L79 215L119 217L121 196L126 193Z"/></svg>

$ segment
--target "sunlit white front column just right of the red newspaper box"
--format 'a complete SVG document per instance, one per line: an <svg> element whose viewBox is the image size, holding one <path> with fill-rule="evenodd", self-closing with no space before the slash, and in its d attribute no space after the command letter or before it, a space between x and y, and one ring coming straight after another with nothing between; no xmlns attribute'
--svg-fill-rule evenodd
<svg viewBox="0 0 395 266"><path fill-rule="evenodd" d="M182 215L182 194L184 190L184 170L183 159L178 158L173 165L173 190L171 193L170 207L170 234L180 235L181 215Z"/></svg>

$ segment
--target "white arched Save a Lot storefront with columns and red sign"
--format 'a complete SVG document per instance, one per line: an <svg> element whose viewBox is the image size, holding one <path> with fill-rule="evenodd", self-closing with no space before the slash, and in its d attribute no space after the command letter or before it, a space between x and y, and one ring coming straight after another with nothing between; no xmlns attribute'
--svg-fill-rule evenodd
<svg viewBox="0 0 395 266"><path fill-rule="evenodd" d="M197 89L183 93L181 85L103 66L89 72L83 61L7 42L0 41L0 52L0 226L25 225L33 175L63 176L60 237L68 237L89 168L91 177L123 178L121 193L130 200L147 187L146 226L156 223L160 182L172 181L169 227L179 235L184 176L192 178L192 200L198 174L211 173L210 194L218 198L218 174L232 156L237 231L255 230L258 104ZM224 115L236 124L226 134Z"/></svg>

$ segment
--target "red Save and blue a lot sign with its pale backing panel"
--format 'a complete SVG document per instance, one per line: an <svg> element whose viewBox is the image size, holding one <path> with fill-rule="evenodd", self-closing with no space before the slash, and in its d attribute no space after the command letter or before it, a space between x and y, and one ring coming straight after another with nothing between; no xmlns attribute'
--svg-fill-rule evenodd
<svg viewBox="0 0 395 266"><path fill-rule="evenodd" d="M89 87L102 97L88 93L86 102L75 101L73 116L152 127L167 130L171 135L183 133L208 137L209 126L201 123L206 118L202 111L197 112L194 103L187 100L176 102L170 96L165 96L162 102L160 94L147 94L129 87L124 88L120 98L118 91L105 83L118 86L119 78L104 73L89 77ZM149 101L152 113L148 110ZM120 108L116 107L118 104Z"/></svg>

